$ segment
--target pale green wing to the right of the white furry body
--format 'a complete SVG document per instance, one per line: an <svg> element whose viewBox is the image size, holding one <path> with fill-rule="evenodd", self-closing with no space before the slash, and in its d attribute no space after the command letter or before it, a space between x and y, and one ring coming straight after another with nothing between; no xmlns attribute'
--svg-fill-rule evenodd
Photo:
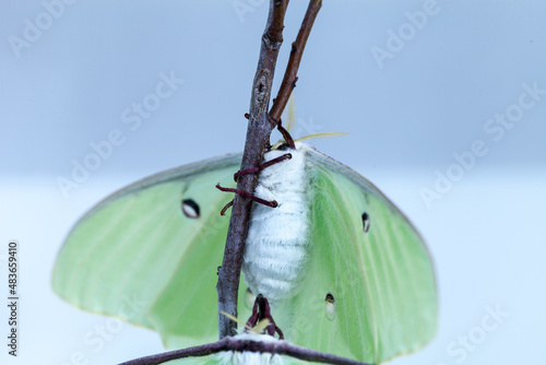
<svg viewBox="0 0 546 365"><path fill-rule="evenodd" d="M314 150L309 158L309 274L289 304L296 308L292 323L277 325L294 343L368 363L417 350L437 320L434 269L422 237L365 178ZM328 294L335 304L327 313Z"/></svg>

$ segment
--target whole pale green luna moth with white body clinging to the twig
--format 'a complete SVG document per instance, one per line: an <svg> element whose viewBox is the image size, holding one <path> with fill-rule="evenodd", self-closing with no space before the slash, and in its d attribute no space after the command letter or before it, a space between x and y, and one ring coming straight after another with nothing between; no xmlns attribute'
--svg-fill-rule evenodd
<svg viewBox="0 0 546 365"><path fill-rule="evenodd" d="M371 182L301 142L274 145L260 172L246 242L239 315L253 294L305 348L381 363L424 345L436 330L430 257L408 220ZM216 270L241 154L154 175L85 214L61 248L52 286L86 310L159 332L167 348L217 335ZM228 181L226 184L226 181ZM229 182L230 181L230 182ZM128 310L128 298L140 301Z"/></svg>

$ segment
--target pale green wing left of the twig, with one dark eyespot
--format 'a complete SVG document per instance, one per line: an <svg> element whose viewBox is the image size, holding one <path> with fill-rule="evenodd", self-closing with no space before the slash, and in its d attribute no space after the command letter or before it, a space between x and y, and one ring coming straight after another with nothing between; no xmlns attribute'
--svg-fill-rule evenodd
<svg viewBox="0 0 546 365"><path fill-rule="evenodd" d="M105 199L70 232L54 291L85 310L155 329L167 344L216 340L217 267L229 224L219 211L232 197L214 185L233 186L240 158L182 166ZM189 199L198 219L182 212Z"/></svg>

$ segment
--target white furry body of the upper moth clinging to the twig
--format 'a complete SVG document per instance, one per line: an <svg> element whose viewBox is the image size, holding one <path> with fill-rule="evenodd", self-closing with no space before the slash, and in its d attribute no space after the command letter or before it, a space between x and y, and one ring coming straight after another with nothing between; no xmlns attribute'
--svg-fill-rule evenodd
<svg viewBox="0 0 546 365"><path fill-rule="evenodd" d="M264 162L290 153L292 158L264 168L254 195L276 200L278 207L252 204L245 244L242 272L254 295L262 294L273 305L296 294L308 258L306 199L306 152L273 150Z"/></svg>

